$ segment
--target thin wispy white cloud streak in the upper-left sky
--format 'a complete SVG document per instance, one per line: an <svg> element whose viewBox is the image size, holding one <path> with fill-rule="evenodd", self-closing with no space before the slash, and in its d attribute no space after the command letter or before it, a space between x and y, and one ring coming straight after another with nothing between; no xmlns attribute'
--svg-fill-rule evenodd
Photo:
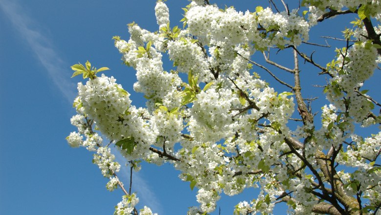
<svg viewBox="0 0 381 215"><path fill-rule="evenodd" d="M55 51L51 39L42 33L42 26L24 13L15 0L0 0L0 8L36 54L53 83L71 103L76 95L76 86L68 79L67 65Z"/></svg>

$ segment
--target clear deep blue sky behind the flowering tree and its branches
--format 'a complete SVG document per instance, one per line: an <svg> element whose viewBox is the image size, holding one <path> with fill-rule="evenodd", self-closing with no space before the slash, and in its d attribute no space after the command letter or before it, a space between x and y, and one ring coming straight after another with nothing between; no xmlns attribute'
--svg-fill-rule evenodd
<svg viewBox="0 0 381 215"><path fill-rule="evenodd" d="M218 2L235 3L237 10L250 11L258 5L253 0ZM262 2L266 6L268 1ZM181 25L180 8L188 1L168 0L167 4L172 26ZM122 64L111 38L119 35L128 40L126 24L132 21L156 31L154 6L155 0L0 0L1 215L113 213L122 192L108 192L107 179L91 163L92 153L71 149L65 141L75 130L70 125L75 114L72 100L76 83L81 81L79 76L70 79L70 65L89 60L96 67L109 67L105 74L114 76L131 93L133 105L144 106L143 95L132 90L134 71ZM326 35L341 35L332 34ZM334 55L327 53L323 65ZM311 74L314 78L304 76L306 85L311 85L317 71ZM128 184L127 171L119 174ZM178 174L170 165L143 165L133 179L140 207L148 205L153 212L173 215L198 206L196 190L191 191L189 182L182 182ZM238 201L250 201L255 193L249 190L243 196L223 198L216 214L218 207L221 214L232 214Z"/></svg>

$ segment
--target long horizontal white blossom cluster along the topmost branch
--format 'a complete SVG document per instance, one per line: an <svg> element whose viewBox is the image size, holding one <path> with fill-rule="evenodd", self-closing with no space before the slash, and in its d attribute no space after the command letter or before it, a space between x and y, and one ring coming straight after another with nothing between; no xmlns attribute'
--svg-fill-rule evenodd
<svg viewBox="0 0 381 215"><path fill-rule="evenodd" d="M270 8L242 13L233 7L221 11L214 5L191 3L185 17L188 31L206 42L252 42L258 47L267 47L286 43L298 45L302 40L308 40L309 24L297 15L296 10L290 15L287 12L273 13Z"/></svg>

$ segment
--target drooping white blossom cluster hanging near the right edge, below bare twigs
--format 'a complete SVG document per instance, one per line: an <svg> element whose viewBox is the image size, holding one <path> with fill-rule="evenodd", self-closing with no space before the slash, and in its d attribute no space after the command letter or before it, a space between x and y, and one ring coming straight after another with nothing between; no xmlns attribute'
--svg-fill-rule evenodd
<svg viewBox="0 0 381 215"><path fill-rule="evenodd" d="M368 114L374 107L373 102L367 98L365 91L360 90L377 66L376 48L367 42L359 42L337 52L337 60L328 67L333 78L325 88L327 99L337 108L348 111L350 117L347 117L347 122L360 122L365 127L380 123L381 119Z"/></svg>

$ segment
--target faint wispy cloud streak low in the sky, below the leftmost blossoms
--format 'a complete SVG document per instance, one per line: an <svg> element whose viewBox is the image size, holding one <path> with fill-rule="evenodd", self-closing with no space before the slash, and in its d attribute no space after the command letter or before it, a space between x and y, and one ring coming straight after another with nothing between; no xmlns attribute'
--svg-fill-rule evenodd
<svg viewBox="0 0 381 215"><path fill-rule="evenodd" d="M130 174L129 168L126 168L124 164L126 163L126 158L124 158L119 151L111 147L111 152L115 155L115 159L122 165L120 172L118 173L118 177L127 184L129 183ZM127 189L127 187L126 187ZM149 207L153 213L157 213L159 215L163 214L163 208L160 204L159 199L156 197L156 194L151 191L147 181L141 176L139 172L132 173L132 192L136 191L137 196L140 199L140 203L142 205L146 205Z"/></svg>

